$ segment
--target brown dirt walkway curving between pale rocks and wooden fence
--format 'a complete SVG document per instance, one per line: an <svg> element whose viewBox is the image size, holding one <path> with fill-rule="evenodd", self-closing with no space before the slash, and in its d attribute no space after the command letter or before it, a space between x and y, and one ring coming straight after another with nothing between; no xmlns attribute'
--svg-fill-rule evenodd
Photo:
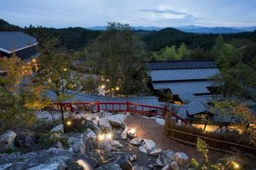
<svg viewBox="0 0 256 170"><path fill-rule="evenodd" d="M197 151L197 148L180 144L165 137L165 135L163 135L164 126L157 124L155 119L128 116L124 122L128 127L136 128L138 137L152 139L162 150L171 149L172 151L176 152L181 151L186 153L189 158L202 160L202 154ZM223 158L224 156L225 155L223 153L209 151L210 160L217 160L219 158Z"/></svg>

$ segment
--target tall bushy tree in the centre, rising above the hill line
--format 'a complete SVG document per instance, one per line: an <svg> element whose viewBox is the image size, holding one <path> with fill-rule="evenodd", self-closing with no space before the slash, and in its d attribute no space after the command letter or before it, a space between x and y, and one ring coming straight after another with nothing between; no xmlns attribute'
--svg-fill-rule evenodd
<svg viewBox="0 0 256 170"><path fill-rule="evenodd" d="M146 91L144 44L128 24L108 23L107 30L89 46L91 67L97 69L109 96Z"/></svg>

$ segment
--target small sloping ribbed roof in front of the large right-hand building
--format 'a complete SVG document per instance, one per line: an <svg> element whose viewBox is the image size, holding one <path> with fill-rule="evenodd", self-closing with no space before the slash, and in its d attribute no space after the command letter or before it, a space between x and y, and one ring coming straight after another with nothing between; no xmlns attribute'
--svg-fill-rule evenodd
<svg viewBox="0 0 256 170"><path fill-rule="evenodd" d="M209 105L206 105L205 103L202 103L196 99L193 94L181 94L179 95L179 99L181 99L183 104L187 107L187 111L190 116L193 114L207 112L209 110Z"/></svg>

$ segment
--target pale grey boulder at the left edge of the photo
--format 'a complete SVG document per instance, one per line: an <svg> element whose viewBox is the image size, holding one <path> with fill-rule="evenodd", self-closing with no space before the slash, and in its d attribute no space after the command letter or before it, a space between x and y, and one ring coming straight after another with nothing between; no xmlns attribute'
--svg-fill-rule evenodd
<svg viewBox="0 0 256 170"><path fill-rule="evenodd" d="M0 151L6 151L8 148L14 147L16 133L12 130L8 130L6 133L0 137Z"/></svg>

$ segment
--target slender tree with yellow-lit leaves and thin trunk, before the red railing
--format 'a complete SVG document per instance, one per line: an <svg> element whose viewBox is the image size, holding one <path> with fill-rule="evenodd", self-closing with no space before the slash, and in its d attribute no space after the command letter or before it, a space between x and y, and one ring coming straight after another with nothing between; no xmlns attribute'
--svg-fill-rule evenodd
<svg viewBox="0 0 256 170"><path fill-rule="evenodd" d="M33 80L44 90L50 90L56 95L55 102L61 104L72 97L68 90L78 90L75 80L77 74L73 74L71 62L72 56L68 51L59 48L56 40L47 42L41 49L42 55L38 58L38 71L34 73ZM63 108L59 108L63 124L65 123Z"/></svg>

